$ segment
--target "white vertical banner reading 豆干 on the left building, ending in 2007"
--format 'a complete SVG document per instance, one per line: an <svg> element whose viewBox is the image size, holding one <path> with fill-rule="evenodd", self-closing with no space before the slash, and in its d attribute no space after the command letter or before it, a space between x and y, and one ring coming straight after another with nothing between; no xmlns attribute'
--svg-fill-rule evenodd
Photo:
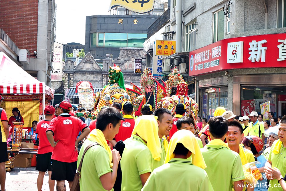
<svg viewBox="0 0 286 191"><path fill-rule="evenodd" d="M54 42L53 47L53 70L51 81L62 81L63 78L63 46Z"/></svg>

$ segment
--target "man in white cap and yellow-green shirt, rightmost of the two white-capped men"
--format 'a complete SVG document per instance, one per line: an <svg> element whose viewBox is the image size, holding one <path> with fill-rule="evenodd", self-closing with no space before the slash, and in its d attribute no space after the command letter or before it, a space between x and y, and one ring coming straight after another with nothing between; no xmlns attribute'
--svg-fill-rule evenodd
<svg viewBox="0 0 286 191"><path fill-rule="evenodd" d="M248 115L251 119L251 123L249 125L249 129L248 129L248 134L247 136L257 136L260 139L264 140L265 136L264 136L264 126L259 123L259 121L257 120L258 114L257 112L251 112L250 115Z"/></svg>

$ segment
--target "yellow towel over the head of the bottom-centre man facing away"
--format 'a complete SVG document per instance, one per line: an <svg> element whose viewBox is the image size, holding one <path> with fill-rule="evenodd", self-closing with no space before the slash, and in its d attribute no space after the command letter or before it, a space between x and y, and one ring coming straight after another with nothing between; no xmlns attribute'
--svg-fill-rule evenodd
<svg viewBox="0 0 286 191"><path fill-rule="evenodd" d="M179 130L174 133L172 139L170 140L165 164L168 163L172 158L174 158L174 150L176 148L177 143L182 143L184 147L186 147L192 153L192 163L202 169L206 168L206 163L204 162L204 158L202 157L202 153L200 152L200 147L198 145L198 141L192 132L186 129Z"/></svg>

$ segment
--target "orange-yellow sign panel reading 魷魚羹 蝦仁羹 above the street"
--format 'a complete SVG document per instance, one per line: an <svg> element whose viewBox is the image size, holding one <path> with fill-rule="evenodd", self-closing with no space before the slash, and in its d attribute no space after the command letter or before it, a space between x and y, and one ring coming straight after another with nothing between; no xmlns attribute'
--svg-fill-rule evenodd
<svg viewBox="0 0 286 191"><path fill-rule="evenodd" d="M176 40L156 40L156 56L170 56L176 53Z"/></svg>

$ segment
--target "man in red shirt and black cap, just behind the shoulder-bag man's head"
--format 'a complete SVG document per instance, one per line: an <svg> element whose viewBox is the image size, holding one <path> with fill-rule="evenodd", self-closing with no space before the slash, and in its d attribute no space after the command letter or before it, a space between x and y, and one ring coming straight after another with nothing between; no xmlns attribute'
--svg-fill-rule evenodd
<svg viewBox="0 0 286 191"><path fill-rule="evenodd" d="M125 141L131 137L135 125L135 119L132 116L133 112L133 105L130 101L122 103L122 114L125 121L121 121L119 131L114 137L115 140L110 141L113 146L115 146L118 141Z"/></svg>

